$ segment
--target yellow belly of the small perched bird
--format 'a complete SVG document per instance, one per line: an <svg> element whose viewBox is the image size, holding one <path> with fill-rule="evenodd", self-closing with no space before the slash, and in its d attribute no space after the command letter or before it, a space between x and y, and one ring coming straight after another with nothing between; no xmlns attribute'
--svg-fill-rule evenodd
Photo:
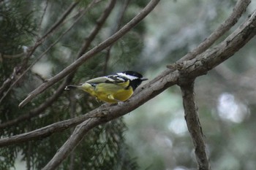
<svg viewBox="0 0 256 170"><path fill-rule="evenodd" d="M91 86L89 83L85 83L81 86L81 89L95 96L101 101L108 103L117 103L118 101L127 101L132 96L132 87L125 88L129 85L129 82L125 82L122 85L116 85L112 83L99 83L96 87Z"/></svg>

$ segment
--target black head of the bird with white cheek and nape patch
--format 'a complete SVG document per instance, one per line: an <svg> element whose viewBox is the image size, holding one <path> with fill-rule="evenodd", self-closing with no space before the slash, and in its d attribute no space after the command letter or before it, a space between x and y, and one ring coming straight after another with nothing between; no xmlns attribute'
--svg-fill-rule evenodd
<svg viewBox="0 0 256 170"><path fill-rule="evenodd" d="M133 90L138 88L141 82L148 80L147 78L144 78L143 75L135 71L124 71L124 72L118 73L118 75L126 77L130 81L129 85L132 86Z"/></svg>

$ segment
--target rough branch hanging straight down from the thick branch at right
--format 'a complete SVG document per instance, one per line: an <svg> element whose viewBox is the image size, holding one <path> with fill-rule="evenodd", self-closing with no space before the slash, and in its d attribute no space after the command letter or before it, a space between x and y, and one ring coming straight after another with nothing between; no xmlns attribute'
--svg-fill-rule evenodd
<svg viewBox="0 0 256 170"><path fill-rule="evenodd" d="M185 80L180 84L180 87L183 98L185 120L195 147L198 169L209 170L211 168L206 153L206 144L203 140L203 131L197 113L197 106L195 104L194 80Z"/></svg>

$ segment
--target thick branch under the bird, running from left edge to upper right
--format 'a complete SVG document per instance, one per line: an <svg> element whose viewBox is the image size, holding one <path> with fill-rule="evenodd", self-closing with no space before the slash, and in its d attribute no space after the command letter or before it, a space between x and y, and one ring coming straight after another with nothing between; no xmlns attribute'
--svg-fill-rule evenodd
<svg viewBox="0 0 256 170"><path fill-rule="evenodd" d="M142 88L138 88L135 91L135 95L129 99L129 101L124 102L122 105L116 106L107 106L99 107L89 112L88 115L83 115L80 117L75 117L74 119L65 120L63 122L54 123L53 125L48 125L43 129L42 133L39 131L32 131L30 137L26 138L26 134L20 134L16 137L20 137L21 142L25 142L31 139L38 139L40 136L48 136L49 134L54 133L55 131L61 130L61 124L64 125L64 129L69 128L73 125L77 125L85 120L88 120L89 117L99 117L98 115L105 115L105 119L97 119L101 123L105 123L106 120L113 120L116 117L121 117L122 115L131 112L133 109L140 107L146 101L154 98L159 93L162 93L163 90L169 88L172 85L181 84L182 80L187 78L195 78L202 74L206 74L208 70L214 68L219 63L222 63L227 58L230 58L233 53L241 49L249 39L252 39L256 34L256 11L252 13L250 18L246 22L236 29L233 34L227 37L222 43L217 47L207 50L205 53L202 53L197 58L192 59L191 61L183 62L182 64L174 64L173 69L166 69L162 74L159 74L154 80L151 80L146 85L143 85ZM48 133L48 129L52 129L53 132ZM50 131L50 130L49 130ZM0 139L0 146L5 146L8 144L13 144L11 138L15 136L8 137L5 139ZM10 139L10 140L9 140Z"/></svg>

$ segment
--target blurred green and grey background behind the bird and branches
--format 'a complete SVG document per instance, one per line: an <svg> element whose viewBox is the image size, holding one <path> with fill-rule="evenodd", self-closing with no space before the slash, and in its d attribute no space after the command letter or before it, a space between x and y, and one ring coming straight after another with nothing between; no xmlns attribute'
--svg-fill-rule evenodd
<svg viewBox="0 0 256 170"><path fill-rule="evenodd" d="M75 61L81 45L109 3L104 0L80 1L30 58L13 57L34 45L72 2L0 1L1 85L14 69L30 66L86 9L84 17L34 64L7 96L3 97L4 93L1 93L0 123L28 114L45 98L53 96L61 82L28 106L18 109L20 101L31 90ZM147 3L146 0L116 1L89 49L107 39ZM72 77L72 84L124 70L136 70L151 80L165 70L167 64L177 61L206 39L230 15L235 4L236 1L222 0L162 0L127 35L80 66ZM256 1L252 1L236 26L216 44L255 9ZM124 16L119 21L122 12ZM229 60L195 81L200 123L212 169L251 170L256 167L255 43L252 39ZM64 91L43 112L1 128L1 138L83 115L100 104L83 92ZM71 133L72 129L69 129L15 147L1 147L0 169L41 169ZM196 167L192 140L184 120L181 90L173 86L124 117L90 131L59 169L189 170Z"/></svg>

